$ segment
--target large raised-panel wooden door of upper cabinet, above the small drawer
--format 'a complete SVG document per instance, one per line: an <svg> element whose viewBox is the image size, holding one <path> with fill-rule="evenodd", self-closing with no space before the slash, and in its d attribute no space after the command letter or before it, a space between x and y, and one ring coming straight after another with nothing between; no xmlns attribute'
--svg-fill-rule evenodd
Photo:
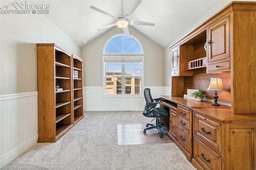
<svg viewBox="0 0 256 170"><path fill-rule="evenodd" d="M230 59L230 16L208 28L208 62Z"/></svg>

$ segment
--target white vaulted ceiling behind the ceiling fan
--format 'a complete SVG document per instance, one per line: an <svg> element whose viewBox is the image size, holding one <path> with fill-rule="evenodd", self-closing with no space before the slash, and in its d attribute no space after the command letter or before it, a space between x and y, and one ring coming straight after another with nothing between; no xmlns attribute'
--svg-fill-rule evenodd
<svg viewBox="0 0 256 170"><path fill-rule="evenodd" d="M97 31L98 28L115 23L113 18L92 10L95 6L119 16L134 0L53 0L42 1L50 4L49 14L44 14L50 22L72 38L81 47L90 43L111 28ZM142 0L130 19L156 23L155 26L128 26L146 35L165 47L217 5L220 0ZM230 2L227 1L226 4ZM224 6L223 6L224 7ZM194 28L193 28L194 29Z"/></svg>

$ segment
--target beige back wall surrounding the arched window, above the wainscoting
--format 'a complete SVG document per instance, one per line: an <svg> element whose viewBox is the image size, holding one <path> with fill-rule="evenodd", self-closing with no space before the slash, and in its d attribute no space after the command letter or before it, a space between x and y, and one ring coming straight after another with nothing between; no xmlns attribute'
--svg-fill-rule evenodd
<svg viewBox="0 0 256 170"><path fill-rule="evenodd" d="M164 48L153 42L131 26L130 34L136 37L144 49L144 86L164 85ZM114 27L82 49L84 59L84 86L103 86L102 50L106 41L115 34L123 33Z"/></svg>

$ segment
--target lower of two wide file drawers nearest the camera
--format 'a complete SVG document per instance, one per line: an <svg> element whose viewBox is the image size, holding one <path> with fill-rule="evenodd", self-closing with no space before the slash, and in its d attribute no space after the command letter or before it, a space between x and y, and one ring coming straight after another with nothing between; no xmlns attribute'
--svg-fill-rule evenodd
<svg viewBox="0 0 256 170"><path fill-rule="evenodd" d="M203 169L220 170L221 156L206 146L203 142L195 138L194 159Z"/></svg>

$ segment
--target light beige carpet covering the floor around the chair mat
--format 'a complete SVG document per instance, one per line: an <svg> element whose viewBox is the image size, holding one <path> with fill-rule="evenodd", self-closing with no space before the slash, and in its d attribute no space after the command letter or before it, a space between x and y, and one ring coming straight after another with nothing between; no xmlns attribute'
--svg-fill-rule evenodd
<svg viewBox="0 0 256 170"><path fill-rule="evenodd" d="M141 112L85 112L84 115L60 140L35 144L2 170L195 169L174 143L118 145L118 123L151 121Z"/></svg>

